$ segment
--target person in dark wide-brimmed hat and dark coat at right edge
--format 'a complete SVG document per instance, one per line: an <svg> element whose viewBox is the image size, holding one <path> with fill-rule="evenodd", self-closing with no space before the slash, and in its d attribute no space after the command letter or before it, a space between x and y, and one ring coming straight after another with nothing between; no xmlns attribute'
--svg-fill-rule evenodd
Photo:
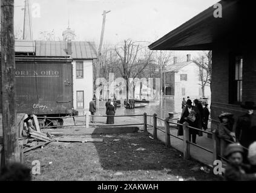
<svg viewBox="0 0 256 193"><path fill-rule="evenodd" d="M252 142L256 141L256 115L254 102L247 101L241 105L247 110L245 115L239 116L235 126L235 136L241 145L248 148Z"/></svg>

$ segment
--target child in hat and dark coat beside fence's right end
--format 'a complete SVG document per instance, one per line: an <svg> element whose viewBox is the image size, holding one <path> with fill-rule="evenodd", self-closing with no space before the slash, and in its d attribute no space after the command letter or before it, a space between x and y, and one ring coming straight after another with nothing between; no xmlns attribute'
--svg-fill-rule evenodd
<svg viewBox="0 0 256 193"><path fill-rule="evenodd" d="M220 139L220 150L223 152L231 142L235 142L235 133L233 132L234 119L232 113L222 113L218 116L218 136ZM221 153L223 154L223 153Z"/></svg>

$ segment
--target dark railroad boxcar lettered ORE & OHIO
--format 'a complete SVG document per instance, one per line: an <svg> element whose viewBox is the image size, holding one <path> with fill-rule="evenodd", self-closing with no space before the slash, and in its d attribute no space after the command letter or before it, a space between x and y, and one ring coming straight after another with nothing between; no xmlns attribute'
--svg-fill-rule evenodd
<svg viewBox="0 0 256 193"><path fill-rule="evenodd" d="M17 113L46 117L71 115L73 113L71 62L72 60L67 57L16 57ZM63 123L62 119L55 121L57 125Z"/></svg>

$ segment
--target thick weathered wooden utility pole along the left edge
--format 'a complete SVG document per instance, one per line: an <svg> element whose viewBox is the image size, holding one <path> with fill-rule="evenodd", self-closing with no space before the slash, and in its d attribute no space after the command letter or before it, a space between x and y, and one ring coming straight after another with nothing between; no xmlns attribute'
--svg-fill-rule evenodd
<svg viewBox="0 0 256 193"><path fill-rule="evenodd" d="M1 87L4 165L20 162L15 101L14 0L1 0Z"/></svg>

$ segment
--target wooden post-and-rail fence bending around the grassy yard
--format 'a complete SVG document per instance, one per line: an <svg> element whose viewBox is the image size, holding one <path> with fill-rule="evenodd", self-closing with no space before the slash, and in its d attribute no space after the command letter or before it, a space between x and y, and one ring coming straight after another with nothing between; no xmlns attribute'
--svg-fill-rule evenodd
<svg viewBox="0 0 256 193"><path fill-rule="evenodd" d="M226 141L228 143L234 143L234 142L228 141L228 140L225 140L225 139L220 139L215 131L213 131L213 132L212 131L205 131L205 130L201 130L199 128L191 127L191 126L188 125L188 122L184 122L183 124L180 124L179 122L169 121L169 118L162 119L162 118L157 117L156 114L147 115L146 113L143 113L143 115L90 115L90 113L86 113L85 115L80 115L80 116L47 117L49 119L50 118L55 118L55 119L56 118L60 118L60 119L73 118L74 119L74 118L77 118L77 117L85 117L85 124L44 126L44 127L41 127L41 128L73 127L73 126L81 126L81 125L83 125L83 126L85 125L86 128L88 128L90 117L134 117L134 116L143 116L143 122L142 123L132 123L132 124L110 124L110 125L94 124L93 126L96 126L96 127L97 126L98 127L117 127L117 126L143 125L143 131L148 131L148 126L153 127L153 137L155 139L157 139L157 131L165 133L165 145L166 145L166 147L171 146L171 137L183 141L183 145L184 145L183 146L183 157L184 157L184 159L189 159L191 157L190 147L191 147L191 145L193 145L194 147L200 148L202 150L207 151L208 153L211 153L212 154L212 163L214 163L214 160L225 160L226 162L228 162L228 160L226 160L225 157L223 157L220 143L222 141ZM38 118L44 119L45 117L38 117ZM147 118L153 118L153 125L148 124ZM164 122L164 129L160 128L159 125L157 125L157 121ZM170 127L174 127L173 125L176 125L176 127L180 127L180 126L182 127L182 129L183 129L183 138L180 138L179 136L176 136L176 135L170 133ZM190 135L189 129L190 130L197 130L199 132L211 135L212 136L212 138L211 138L212 139L212 150L209 150L209 148L203 147L202 145L198 145L198 144L195 144L195 143L191 142L190 141L190 136L189 136ZM243 148L245 148L245 147L243 147ZM248 150L248 149L245 148L245 150Z"/></svg>

